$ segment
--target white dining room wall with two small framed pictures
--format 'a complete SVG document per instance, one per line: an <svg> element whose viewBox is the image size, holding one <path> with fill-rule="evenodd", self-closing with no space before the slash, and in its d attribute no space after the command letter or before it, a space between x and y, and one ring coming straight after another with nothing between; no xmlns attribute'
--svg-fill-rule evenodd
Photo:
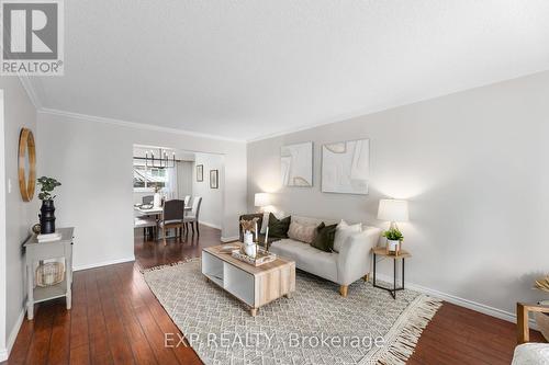
<svg viewBox="0 0 549 365"><path fill-rule="evenodd" d="M225 184L223 183L224 157L213 153L195 153L194 167L199 164L204 167L204 180L202 182L197 181L195 168L192 172L192 195L202 196L199 221L211 227L219 228L223 221L222 206L223 192L225 190ZM210 189L210 170L219 171L219 189ZM238 225L238 221L236 225Z"/></svg>

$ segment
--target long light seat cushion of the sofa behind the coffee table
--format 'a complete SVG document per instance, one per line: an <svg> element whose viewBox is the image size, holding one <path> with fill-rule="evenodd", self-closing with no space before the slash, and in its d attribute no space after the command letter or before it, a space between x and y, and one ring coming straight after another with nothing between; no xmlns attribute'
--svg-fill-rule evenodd
<svg viewBox="0 0 549 365"><path fill-rule="evenodd" d="M337 253L324 252L292 239L273 242L270 251L295 261L295 266L300 270L337 282Z"/></svg>

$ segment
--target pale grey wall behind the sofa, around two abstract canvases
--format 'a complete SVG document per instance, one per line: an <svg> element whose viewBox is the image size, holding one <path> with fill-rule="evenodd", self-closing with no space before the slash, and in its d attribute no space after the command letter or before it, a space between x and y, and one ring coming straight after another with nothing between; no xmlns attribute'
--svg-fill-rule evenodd
<svg viewBox="0 0 549 365"><path fill-rule="evenodd" d="M407 281L512 316L549 271L548 96L542 72L251 142L248 209L266 191L289 213L385 226L379 198L406 198ZM358 138L370 138L370 194L321 193L322 144ZM282 187L280 147L309 140L314 187Z"/></svg>

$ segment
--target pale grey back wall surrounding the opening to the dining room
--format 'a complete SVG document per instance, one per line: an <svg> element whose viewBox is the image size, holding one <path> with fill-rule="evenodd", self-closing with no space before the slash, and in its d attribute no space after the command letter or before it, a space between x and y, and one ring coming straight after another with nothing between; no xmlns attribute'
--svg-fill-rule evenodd
<svg viewBox="0 0 549 365"><path fill-rule="evenodd" d="M75 267L133 259L133 145L225 155L223 237L238 233L246 210L246 145L141 129L79 115L38 113L42 173L63 186L56 199L59 227L75 226Z"/></svg>

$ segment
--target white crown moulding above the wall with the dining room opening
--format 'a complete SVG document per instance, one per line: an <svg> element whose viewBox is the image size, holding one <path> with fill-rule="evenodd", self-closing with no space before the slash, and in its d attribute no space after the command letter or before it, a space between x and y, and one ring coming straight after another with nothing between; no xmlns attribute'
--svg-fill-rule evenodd
<svg viewBox="0 0 549 365"><path fill-rule="evenodd" d="M42 107L37 112L41 114L65 116L65 117L69 117L72 119L113 124L113 125L127 127L127 128L165 132L165 133L172 133L172 134L186 135L186 136L191 136L191 137L226 140L226 141L240 142L240 144L246 142L246 140L244 140L244 139L220 137L220 136L209 135L209 134L204 134L204 133L190 132L190 130L178 129L178 128L160 127L160 126L153 125L153 124L127 122L127 121L108 118L108 117L102 117L102 116L93 116L93 115L87 115L87 114L80 114L80 113L65 112L65 111L59 111L59 110L48 109L48 107Z"/></svg>

